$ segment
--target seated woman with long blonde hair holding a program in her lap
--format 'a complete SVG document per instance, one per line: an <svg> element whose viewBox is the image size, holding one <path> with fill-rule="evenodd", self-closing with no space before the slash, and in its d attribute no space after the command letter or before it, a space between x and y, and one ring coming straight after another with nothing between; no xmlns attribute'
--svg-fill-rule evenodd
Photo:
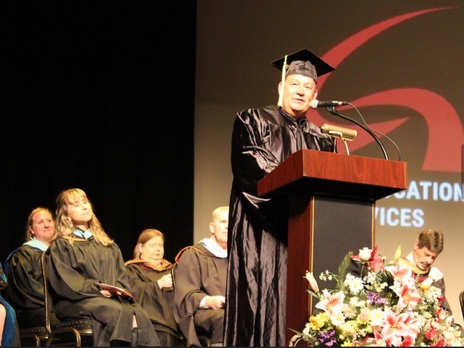
<svg viewBox="0 0 464 348"><path fill-rule="evenodd" d="M62 191L56 198L55 239L47 254L58 319L90 317L94 346L160 345L138 303L96 284L130 292L121 250L103 230L82 189Z"/></svg>

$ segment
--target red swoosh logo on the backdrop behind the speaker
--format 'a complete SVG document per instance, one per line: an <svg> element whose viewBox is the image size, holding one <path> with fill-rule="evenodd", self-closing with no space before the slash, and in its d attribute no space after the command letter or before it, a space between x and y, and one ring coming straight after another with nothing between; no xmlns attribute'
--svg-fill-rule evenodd
<svg viewBox="0 0 464 348"><path fill-rule="evenodd" d="M387 19L350 36L350 38L347 38L339 45L330 49L322 58L325 61L330 61L331 65L337 68L337 66L351 53L355 52L356 49L371 40L371 38L382 33L382 31L419 15L452 8L456 7L429 8ZM330 78L330 74L329 76L326 75L318 79L319 90L322 88L327 78ZM394 101L394 103L392 101ZM456 173L461 171L461 162L459 159L461 158L461 144L464 143L463 125L454 107L451 106L444 97L430 90L420 88L397 88L360 97L352 101L352 103L357 107L376 105L405 106L421 114L428 126L428 144L422 169L424 171ZM392 130L403 125L408 119L409 118L388 120L385 122L377 122L369 126L382 134L388 134L392 132ZM316 124L327 122L318 112L311 113L311 120ZM346 125L340 126L346 127ZM357 150L374 141L363 129L357 126L355 126L355 128L357 128L359 136L353 144L350 144L351 150ZM440 133L442 129L446 129L446 137Z"/></svg>

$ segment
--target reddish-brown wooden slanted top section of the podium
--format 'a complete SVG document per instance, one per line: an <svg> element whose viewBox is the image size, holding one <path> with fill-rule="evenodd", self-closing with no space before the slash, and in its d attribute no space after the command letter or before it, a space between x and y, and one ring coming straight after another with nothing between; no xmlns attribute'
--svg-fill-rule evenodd
<svg viewBox="0 0 464 348"><path fill-rule="evenodd" d="M307 191L311 195L378 200L408 189L403 161L299 150L258 182L258 195Z"/></svg>

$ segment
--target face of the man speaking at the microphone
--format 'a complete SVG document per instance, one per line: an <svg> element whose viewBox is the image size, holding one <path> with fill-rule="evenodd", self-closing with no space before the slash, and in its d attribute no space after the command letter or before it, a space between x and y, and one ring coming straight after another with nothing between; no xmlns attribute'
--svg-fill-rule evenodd
<svg viewBox="0 0 464 348"><path fill-rule="evenodd" d="M279 93L284 93L282 108L291 116L299 119L306 115L309 102L316 99L318 90L311 77L293 74L285 79L284 86L279 84Z"/></svg>

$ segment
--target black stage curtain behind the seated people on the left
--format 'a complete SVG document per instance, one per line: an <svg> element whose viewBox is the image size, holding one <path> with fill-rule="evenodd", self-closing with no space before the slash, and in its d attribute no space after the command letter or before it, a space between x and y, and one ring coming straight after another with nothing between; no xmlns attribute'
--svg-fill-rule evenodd
<svg viewBox="0 0 464 348"><path fill-rule="evenodd" d="M196 1L2 1L0 260L84 189L125 260L193 239ZM162 9L161 9L162 8Z"/></svg>

